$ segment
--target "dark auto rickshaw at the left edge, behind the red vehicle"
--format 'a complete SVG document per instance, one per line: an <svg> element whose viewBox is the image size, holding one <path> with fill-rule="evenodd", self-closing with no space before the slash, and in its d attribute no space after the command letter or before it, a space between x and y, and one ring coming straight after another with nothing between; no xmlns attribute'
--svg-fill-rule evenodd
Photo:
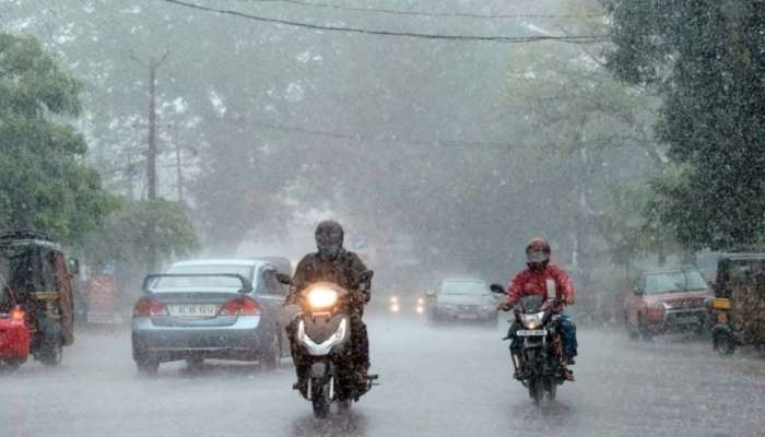
<svg viewBox="0 0 765 437"><path fill-rule="evenodd" d="M74 342L71 275L60 246L28 231L0 233L0 275L23 310L30 352L55 366Z"/></svg>

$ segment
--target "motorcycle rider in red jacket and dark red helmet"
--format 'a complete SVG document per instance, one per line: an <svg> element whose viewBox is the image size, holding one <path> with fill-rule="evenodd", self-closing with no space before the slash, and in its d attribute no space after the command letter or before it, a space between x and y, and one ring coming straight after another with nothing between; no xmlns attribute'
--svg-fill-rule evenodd
<svg viewBox="0 0 765 437"><path fill-rule="evenodd" d="M526 246L526 269L516 273L507 290L507 300L501 303L498 308L508 310L513 308L521 297L540 295L544 299L560 296L565 305L574 305L576 302L576 291L568 274L560 267L550 262L552 250L550 244L544 238L533 238ZM560 310L563 310L561 308ZM576 326L570 317L561 315L558 319L561 326L561 336L563 343L564 364L575 364L574 357L577 355ZM510 352L520 357L518 353L521 342L516 335L522 329L516 320L510 326L507 336L510 339ZM520 358L519 358L520 359ZM565 370L566 379L574 378L573 373Z"/></svg>

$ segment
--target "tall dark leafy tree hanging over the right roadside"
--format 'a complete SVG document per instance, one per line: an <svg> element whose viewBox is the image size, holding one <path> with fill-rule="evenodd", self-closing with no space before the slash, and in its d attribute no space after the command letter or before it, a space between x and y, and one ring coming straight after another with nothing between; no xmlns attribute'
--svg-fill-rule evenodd
<svg viewBox="0 0 765 437"><path fill-rule="evenodd" d="M756 243L765 224L765 2L605 0L616 76L663 97L680 177L655 209L686 249Z"/></svg>

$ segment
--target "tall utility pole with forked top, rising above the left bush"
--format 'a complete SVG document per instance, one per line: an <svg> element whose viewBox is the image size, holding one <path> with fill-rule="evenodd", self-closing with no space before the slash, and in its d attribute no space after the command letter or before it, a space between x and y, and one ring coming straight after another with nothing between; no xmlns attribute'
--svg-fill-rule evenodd
<svg viewBox="0 0 765 437"><path fill-rule="evenodd" d="M156 177L156 70L167 60L170 54L169 49L165 50L160 59L152 57L149 62L141 61L134 55L131 55L133 60L149 70L149 149L146 150L146 197L149 201L157 198L157 177ZM156 272L156 228L155 223L150 223L149 235L146 236L149 246L149 257L146 259L146 269L149 273Z"/></svg>

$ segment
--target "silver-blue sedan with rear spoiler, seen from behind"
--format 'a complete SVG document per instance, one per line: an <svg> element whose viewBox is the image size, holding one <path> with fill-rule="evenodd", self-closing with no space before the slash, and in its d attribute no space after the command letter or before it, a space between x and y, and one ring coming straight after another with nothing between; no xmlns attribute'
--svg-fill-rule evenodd
<svg viewBox="0 0 765 437"><path fill-rule="evenodd" d="M259 361L267 369L289 354L284 288L260 260L176 262L149 275L133 308L132 354L139 371L186 359Z"/></svg>

